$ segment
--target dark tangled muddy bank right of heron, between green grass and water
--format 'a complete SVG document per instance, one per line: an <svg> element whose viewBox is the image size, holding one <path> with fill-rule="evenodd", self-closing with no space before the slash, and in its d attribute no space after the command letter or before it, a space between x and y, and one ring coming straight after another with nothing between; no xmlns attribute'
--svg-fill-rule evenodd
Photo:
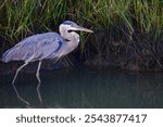
<svg viewBox="0 0 163 127"><path fill-rule="evenodd" d="M125 31L125 33L124 33ZM154 31L153 31L154 33ZM134 71L163 69L163 36L127 29L97 31L87 42L86 65L118 66Z"/></svg>

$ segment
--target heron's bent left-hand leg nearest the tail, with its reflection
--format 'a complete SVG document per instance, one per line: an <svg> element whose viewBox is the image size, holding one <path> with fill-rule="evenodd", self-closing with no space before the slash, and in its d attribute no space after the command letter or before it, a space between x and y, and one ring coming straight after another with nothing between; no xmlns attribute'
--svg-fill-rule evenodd
<svg viewBox="0 0 163 127"><path fill-rule="evenodd" d="M16 89L16 87L15 87L15 85L14 85L15 79L16 79L16 77L17 77L20 71L21 71L23 67L25 67L28 63L29 63L29 62L25 62L22 66L20 66L20 67L17 68L16 74L15 74L13 80L12 80L12 86L13 86L15 92L16 92L17 98L18 98L22 102L26 103L27 105L30 105L29 102L27 102L26 100L24 100L24 99L20 96L20 93L18 93L18 91L17 91L17 89Z"/></svg>

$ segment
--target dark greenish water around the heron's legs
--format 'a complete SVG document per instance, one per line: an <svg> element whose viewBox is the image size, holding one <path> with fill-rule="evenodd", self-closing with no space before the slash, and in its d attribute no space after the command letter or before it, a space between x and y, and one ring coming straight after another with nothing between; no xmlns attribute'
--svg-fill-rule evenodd
<svg viewBox="0 0 163 127"><path fill-rule="evenodd" d="M0 107L25 107L11 85L13 76L0 77ZM41 71L40 77L42 104L34 73L22 73L15 82L33 107L163 107L163 73L73 67Z"/></svg>

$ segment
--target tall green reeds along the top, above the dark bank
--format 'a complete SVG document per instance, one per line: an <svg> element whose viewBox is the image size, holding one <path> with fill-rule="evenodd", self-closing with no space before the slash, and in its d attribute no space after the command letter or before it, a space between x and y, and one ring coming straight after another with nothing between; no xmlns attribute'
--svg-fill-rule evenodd
<svg viewBox="0 0 163 127"><path fill-rule="evenodd" d="M60 23L72 20L95 31L127 29L131 39L137 30L152 33L156 39L162 35L162 12L161 0L1 0L0 38L11 47L26 36L58 30ZM82 35L82 50L86 36Z"/></svg>

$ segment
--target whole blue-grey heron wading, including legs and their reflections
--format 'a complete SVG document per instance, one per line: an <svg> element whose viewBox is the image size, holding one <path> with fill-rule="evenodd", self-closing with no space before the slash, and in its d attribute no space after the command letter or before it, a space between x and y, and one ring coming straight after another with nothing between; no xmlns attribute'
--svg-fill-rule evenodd
<svg viewBox="0 0 163 127"><path fill-rule="evenodd" d="M25 101L17 92L14 82L18 75L18 72L25 67L29 62L39 61L36 77L38 79L37 92L39 93L40 78L39 71L42 60L54 60L58 61L61 56L66 55L73 51L79 43L79 35L75 30L83 30L88 33L93 33L90 29L78 26L74 22L65 21L60 25L60 34L57 33L45 33L38 34L23 39L13 48L5 51L2 55L3 62L10 61L24 61L25 63L20 66L15 73L12 80L12 85L16 91L17 98L25 102L27 105L29 103ZM40 94L39 99L41 101Z"/></svg>

